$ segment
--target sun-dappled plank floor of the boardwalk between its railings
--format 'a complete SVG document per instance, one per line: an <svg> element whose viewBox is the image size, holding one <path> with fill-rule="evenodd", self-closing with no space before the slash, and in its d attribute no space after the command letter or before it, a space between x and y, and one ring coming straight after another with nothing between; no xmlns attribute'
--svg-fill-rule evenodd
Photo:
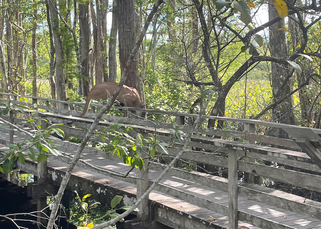
<svg viewBox="0 0 321 229"><path fill-rule="evenodd" d="M2 127L3 129L3 127ZM8 134L0 134L1 143L9 142ZM23 139L23 137L14 136L14 142L19 142ZM56 141L60 141L57 140ZM2 146L3 147L3 146ZM69 143L68 147L65 147L65 144L61 144L58 148L62 152L74 153L75 144ZM89 149L89 147L86 148ZM93 165L100 166L107 169L112 169L115 172L126 173L130 167L120 162L119 160L111 160L103 157L103 154L93 155L83 153L83 159L87 162L90 162ZM29 162L30 163L30 162ZM48 160L48 167L54 170L58 170L59 173L66 171L68 167L68 163L62 162L61 160L57 160L54 157L50 157ZM49 169L49 174L51 177L55 177L52 175L52 170ZM136 175L136 171L133 170L131 175ZM151 181L156 179L160 172L153 170L152 168L149 171L149 178ZM124 181L126 178L122 178L123 180L115 179L109 176L101 175L97 172L90 171L88 169L77 167L73 175L79 177L79 180L88 180L90 182L99 183L103 186L110 186L114 189L118 189L119 191L128 193L128 195L136 194L136 185ZM206 175L204 175L206 176ZM58 180L57 180L58 181ZM55 180L52 179L52 182L55 183ZM213 189L202 184L197 184L188 180L184 180L175 176L165 176L160 182L167 187L178 190L180 192L184 192L186 194L195 196L197 198L201 198L203 200L209 200L213 203L220 203L224 206L228 206L228 193L223 192L217 189ZM59 182L56 183L59 185ZM251 185L251 184L248 184ZM161 190L161 188L157 188L157 190ZM264 187L262 187L262 191L264 191ZM88 192L97 192L97 190L88 190ZM98 191L100 192L100 191ZM102 192L102 190L101 190ZM312 200L306 200L305 198L294 196L291 194L287 194L284 192L274 191L273 195L287 196L286 198L298 201L298 202L310 202L311 205L321 206L320 202L315 202ZM196 225L203 225L201 228L228 228L228 217L221 215L213 210L204 209L197 205L194 205L190 202L180 200L175 196L171 196L165 194L160 191L153 191L150 194L150 200L154 201L154 204L157 206L155 208L155 220L163 223L168 226L172 226L177 228L175 222L172 222L172 218L170 215L175 217L184 217L186 218L186 222L188 225L193 225L190 221L195 222ZM298 228L298 229L308 229L308 228L321 228L321 220L317 220L311 217L303 216L295 212L287 211L285 209L277 208L272 205L268 205L262 202L258 202L255 200L250 200L247 198L239 197L238 198L238 208L240 211L244 211L250 213L251 215L259 216L265 219L273 220L282 225L288 225L288 228ZM167 213L166 213L167 212ZM200 223L200 224L197 224ZM260 227L256 227L247 223L243 223L239 221L239 226L247 226L251 229L258 229ZM184 228L184 226L179 227ZM190 227L191 228L191 227ZM197 227L194 227L197 228ZM263 228L265 229L265 228Z"/></svg>

